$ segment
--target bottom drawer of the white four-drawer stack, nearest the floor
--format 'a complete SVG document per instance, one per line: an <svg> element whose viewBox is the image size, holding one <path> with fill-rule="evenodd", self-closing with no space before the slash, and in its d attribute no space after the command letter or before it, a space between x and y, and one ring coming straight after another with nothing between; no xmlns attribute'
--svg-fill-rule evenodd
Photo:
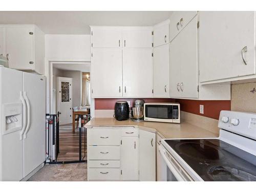
<svg viewBox="0 0 256 192"><path fill-rule="evenodd" d="M88 180L118 181L120 168L88 168Z"/></svg>

